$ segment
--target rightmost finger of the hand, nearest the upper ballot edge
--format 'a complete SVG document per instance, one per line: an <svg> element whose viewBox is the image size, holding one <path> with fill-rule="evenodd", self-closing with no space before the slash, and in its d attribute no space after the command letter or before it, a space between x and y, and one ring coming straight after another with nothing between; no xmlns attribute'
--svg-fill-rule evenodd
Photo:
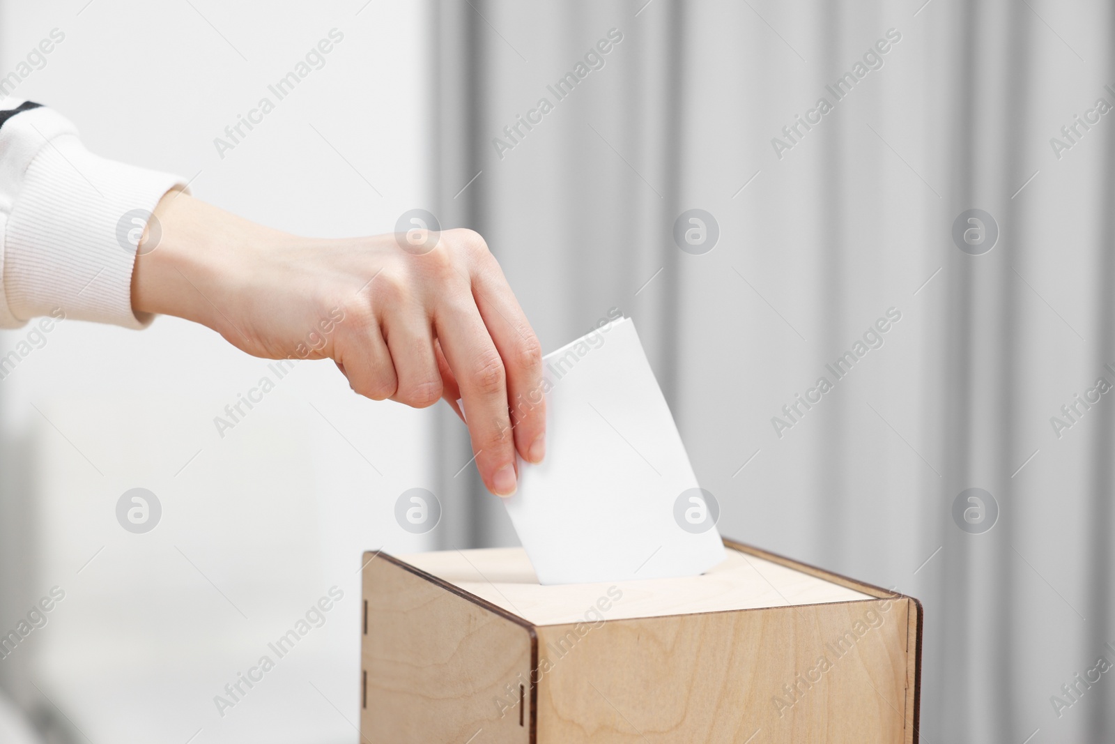
<svg viewBox="0 0 1115 744"><path fill-rule="evenodd" d="M515 448L526 462L540 463L546 453L542 349L500 265L484 253L474 277L476 307L506 369Z"/></svg>

